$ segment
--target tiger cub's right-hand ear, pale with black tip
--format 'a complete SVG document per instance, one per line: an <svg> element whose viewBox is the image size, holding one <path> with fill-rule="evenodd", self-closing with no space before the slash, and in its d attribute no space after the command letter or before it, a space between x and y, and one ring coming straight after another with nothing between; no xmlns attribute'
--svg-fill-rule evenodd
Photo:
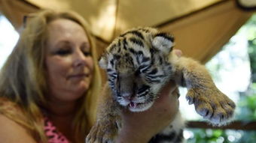
<svg viewBox="0 0 256 143"><path fill-rule="evenodd" d="M174 37L167 33L158 33L153 39L154 48L162 51L164 54L169 54L174 46Z"/></svg>

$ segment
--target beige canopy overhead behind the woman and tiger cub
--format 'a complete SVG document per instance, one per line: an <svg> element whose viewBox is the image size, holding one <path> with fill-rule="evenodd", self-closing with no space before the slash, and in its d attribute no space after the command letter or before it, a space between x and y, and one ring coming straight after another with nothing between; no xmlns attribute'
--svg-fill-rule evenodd
<svg viewBox="0 0 256 143"><path fill-rule="evenodd" d="M0 0L0 11L19 29L26 13L75 10L89 22L99 52L121 31L154 26L174 34L177 49L204 63L255 12L255 2L247 1L251 0Z"/></svg>

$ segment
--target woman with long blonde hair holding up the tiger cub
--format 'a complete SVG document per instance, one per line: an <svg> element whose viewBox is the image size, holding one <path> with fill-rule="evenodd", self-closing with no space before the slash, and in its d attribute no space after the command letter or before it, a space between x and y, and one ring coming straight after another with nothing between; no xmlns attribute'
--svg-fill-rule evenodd
<svg viewBox="0 0 256 143"><path fill-rule="evenodd" d="M43 10L30 16L0 73L0 140L84 142L101 90L96 59L93 38L78 14ZM168 96L172 87L163 89L148 112L123 112L126 126L117 142L148 142L163 129L178 107L175 96Z"/></svg>

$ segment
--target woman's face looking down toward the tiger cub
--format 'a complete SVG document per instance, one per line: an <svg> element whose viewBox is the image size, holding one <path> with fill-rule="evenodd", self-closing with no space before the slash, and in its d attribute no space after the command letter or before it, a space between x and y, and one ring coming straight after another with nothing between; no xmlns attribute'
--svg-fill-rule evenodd
<svg viewBox="0 0 256 143"><path fill-rule="evenodd" d="M50 99L77 100L87 91L93 58L84 28L69 19L55 19L47 27L47 84Z"/></svg>

